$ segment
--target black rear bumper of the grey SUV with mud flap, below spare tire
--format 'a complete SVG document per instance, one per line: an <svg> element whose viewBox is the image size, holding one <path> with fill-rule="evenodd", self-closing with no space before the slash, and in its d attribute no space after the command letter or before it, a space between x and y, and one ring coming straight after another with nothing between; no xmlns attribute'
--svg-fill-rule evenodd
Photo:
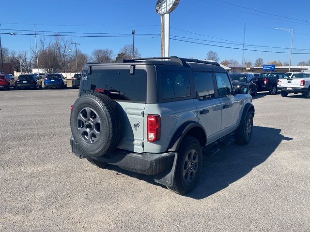
<svg viewBox="0 0 310 232"><path fill-rule="evenodd" d="M80 148L72 136L70 139L70 145L72 152L76 156L80 158L84 157L83 149ZM120 168L131 172L153 175L155 182L171 186L174 179L177 153L134 153L117 149L115 152L104 157L90 158L119 166Z"/></svg>

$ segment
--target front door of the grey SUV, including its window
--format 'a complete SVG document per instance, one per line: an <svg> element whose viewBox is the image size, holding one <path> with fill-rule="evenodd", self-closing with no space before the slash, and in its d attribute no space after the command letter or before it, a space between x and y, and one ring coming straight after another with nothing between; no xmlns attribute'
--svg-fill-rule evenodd
<svg viewBox="0 0 310 232"><path fill-rule="evenodd" d="M221 131L226 134L235 130L241 111L241 101L233 94L233 87L227 73L215 73L217 81L218 100L222 109Z"/></svg>

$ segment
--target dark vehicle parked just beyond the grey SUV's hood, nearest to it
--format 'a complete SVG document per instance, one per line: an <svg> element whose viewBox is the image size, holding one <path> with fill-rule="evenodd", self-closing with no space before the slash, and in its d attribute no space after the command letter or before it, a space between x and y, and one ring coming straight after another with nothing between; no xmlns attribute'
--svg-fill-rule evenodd
<svg viewBox="0 0 310 232"><path fill-rule="evenodd" d="M229 73L233 86L238 89L240 86L248 85L248 92L252 96L257 94L257 84L252 73Z"/></svg>

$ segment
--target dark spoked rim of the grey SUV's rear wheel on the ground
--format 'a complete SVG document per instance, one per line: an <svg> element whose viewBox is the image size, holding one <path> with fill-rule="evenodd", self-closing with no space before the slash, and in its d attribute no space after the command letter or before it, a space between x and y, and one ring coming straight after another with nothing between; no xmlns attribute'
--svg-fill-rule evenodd
<svg viewBox="0 0 310 232"><path fill-rule="evenodd" d="M188 151L183 163L183 180L186 184L190 184L198 171L198 154L192 149Z"/></svg>

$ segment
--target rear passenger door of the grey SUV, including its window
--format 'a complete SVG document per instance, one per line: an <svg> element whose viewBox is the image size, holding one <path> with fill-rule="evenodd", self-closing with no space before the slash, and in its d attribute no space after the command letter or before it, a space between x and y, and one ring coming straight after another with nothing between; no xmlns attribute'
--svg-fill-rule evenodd
<svg viewBox="0 0 310 232"><path fill-rule="evenodd" d="M193 72L196 97L194 100L198 121L206 131L208 144L218 139L221 132L222 108L217 99L217 87L212 73Z"/></svg>

